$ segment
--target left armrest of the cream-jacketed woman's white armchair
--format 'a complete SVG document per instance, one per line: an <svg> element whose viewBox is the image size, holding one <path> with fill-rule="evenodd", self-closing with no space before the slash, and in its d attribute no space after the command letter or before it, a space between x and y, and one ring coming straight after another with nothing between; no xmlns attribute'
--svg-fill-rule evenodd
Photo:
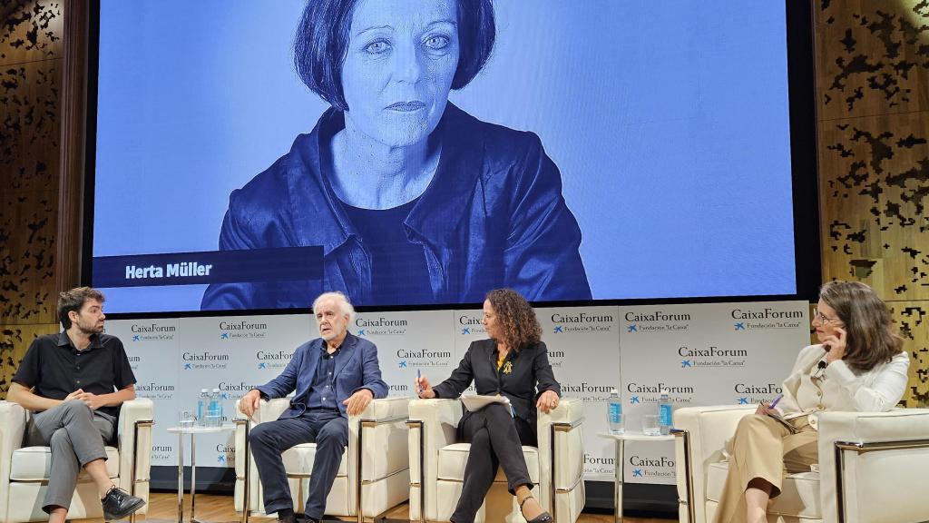
<svg viewBox="0 0 929 523"><path fill-rule="evenodd" d="M704 523L706 469L723 461L726 440L736 433L742 417L752 414L754 405L716 405L687 407L674 411L674 468L677 496L687 502L695 523ZM683 516L683 513L681 514Z"/></svg>

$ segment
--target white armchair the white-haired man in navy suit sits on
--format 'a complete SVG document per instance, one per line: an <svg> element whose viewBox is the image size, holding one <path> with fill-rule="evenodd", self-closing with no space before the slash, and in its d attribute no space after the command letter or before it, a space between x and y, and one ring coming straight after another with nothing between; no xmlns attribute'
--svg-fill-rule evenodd
<svg viewBox="0 0 929 523"><path fill-rule="evenodd" d="M348 417L348 447L342 455L333 489L326 498L327 515L356 516L359 521L372 521L406 501L410 481L406 436L409 402L409 397L375 399L358 416ZM242 521L247 522L248 516L265 515L261 482L245 435L255 424L277 420L289 405L289 398L262 400L255 412L255 422L236 420L234 503L236 511L242 513ZM236 412L241 415L238 407L237 403ZM282 455L294 495L294 510L304 509L315 455L315 443L296 445Z"/></svg>

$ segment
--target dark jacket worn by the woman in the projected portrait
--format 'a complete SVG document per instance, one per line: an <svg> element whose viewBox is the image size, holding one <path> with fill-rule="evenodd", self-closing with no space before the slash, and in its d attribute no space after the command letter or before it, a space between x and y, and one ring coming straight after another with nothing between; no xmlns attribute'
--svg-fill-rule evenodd
<svg viewBox="0 0 929 523"><path fill-rule="evenodd" d="M322 114L289 153L229 195L219 235L221 250L322 246L323 281L214 284L204 310L308 307L322 290L371 302L370 255L330 183L329 146L344 127L341 112ZM581 230L539 137L451 103L435 133L435 178L404 221L407 237L423 246L435 302L482 302L503 287L530 301L590 299Z"/></svg>

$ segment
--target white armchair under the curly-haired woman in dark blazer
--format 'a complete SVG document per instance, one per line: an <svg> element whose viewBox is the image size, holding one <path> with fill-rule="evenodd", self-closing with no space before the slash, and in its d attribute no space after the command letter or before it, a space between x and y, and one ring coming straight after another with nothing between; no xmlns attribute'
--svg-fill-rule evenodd
<svg viewBox="0 0 929 523"><path fill-rule="evenodd" d="M464 481L470 445L457 442L458 399L410 402L410 520L449 521ZM539 411L539 447L523 447L533 495L558 523L576 521L584 506L583 401L562 398L557 409ZM498 471L478 511L478 522L525 522Z"/></svg>

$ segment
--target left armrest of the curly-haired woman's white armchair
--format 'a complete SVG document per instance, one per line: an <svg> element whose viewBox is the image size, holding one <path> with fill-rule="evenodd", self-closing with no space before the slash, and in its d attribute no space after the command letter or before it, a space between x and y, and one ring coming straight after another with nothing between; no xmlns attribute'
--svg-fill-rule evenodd
<svg viewBox="0 0 929 523"><path fill-rule="evenodd" d="M436 519L438 449L458 440L462 405L458 399L413 399L410 402L410 519Z"/></svg>

